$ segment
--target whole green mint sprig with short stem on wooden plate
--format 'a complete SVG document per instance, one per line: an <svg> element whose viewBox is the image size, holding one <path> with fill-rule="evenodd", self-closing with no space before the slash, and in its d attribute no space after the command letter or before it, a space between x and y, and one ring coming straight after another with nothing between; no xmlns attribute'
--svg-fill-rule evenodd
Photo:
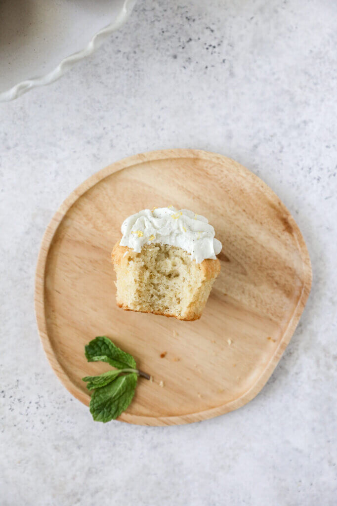
<svg viewBox="0 0 337 506"><path fill-rule="evenodd" d="M136 367L132 355L122 351L105 335L93 339L85 348L88 362L107 362L115 369L98 376L85 376L87 388L93 390L90 412L94 420L114 420L130 405L137 386L138 376L150 379L149 374Z"/></svg>

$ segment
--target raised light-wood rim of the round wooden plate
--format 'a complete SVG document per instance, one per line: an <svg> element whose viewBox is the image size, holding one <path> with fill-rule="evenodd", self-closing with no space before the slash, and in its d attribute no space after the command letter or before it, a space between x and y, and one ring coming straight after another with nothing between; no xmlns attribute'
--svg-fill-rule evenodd
<svg viewBox="0 0 337 506"><path fill-rule="evenodd" d="M62 368L61 364L59 363L56 354L54 353L53 346L49 340L48 332L47 332L47 324L46 324L46 318L45 318L45 297L44 297L44 288L45 288L45 270L47 265L47 259L48 259L48 252L50 249L50 246L53 241L53 237L62 222L64 216L70 209L70 207L76 202L76 200L81 197L84 193L86 193L90 188L95 186L97 183L105 179L106 177L110 176L111 174L114 174L115 172L118 172L120 170L123 170L124 168L128 168L132 165L140 164L146 161L153 161L153 160L162 160L167 158L201 158L206 159L207 161L220 161L220 160L230 160L231 163L234 163L237 170L241 172L245 177L248 177L255 183L259 183L260 186L262 186L264 192L266 194L269 194L270 197L273 199L276 197L280 202L282 207L287 211L288 213L288 220L293 228L296 240L297 240L297 246L301 254L301 259L303 261L303 268L304 268L304 284L302 287L302 292L300 294L298 304L294 308L293 313L291 314L287 327L284 330L282 334L282 338L275 349L274 353L271 355L268 363L266 364L266 367L263 369L260 376L257 378L256 382L247 390L245 391L240 397L234 399L233 401L223 404L221 406L217 406L214 408L210 408L204 411L197 411L194 413L187 413L182 415L173 415L173 416L146 416L146 415L136 415L131 414L128 412L123 412L119 417L119 421L125 421L130 424L136 424L136 425L146 425L146 426L165 426L165 425L182 425L187 423L192 423L195 421L200 421L208 418L213 418L215 416L219 416L221 414L225 414L230 411L234 411L235 409L238 409L245 404L247 404L249 401L254 399L259 392L262 390L262 388L267 383L268 379L270 378L271 374L273 373L277 363L279 362L280 358L282 357L282 354L289 344L291 337L294 333L294 330L296 329L300 317L303 313L303 310L306 306L311 285L312 285L312 266L311 261L309 257L309 252L306 246L306 243L304 241L304 238L302 236L302 233L292 217L291 213L289 213L286 206L283 204L283 202L279 199L279 197L276 195L276 193L258 176L256 176L254 173L249 171L246 167L238 163L237 161L233 160L230 157L227 157L225 155L221 155L218 153L213 153L209 151L203 151L199 149L163 149L163 150L155 150L155 151L148 151L144 153L139 153L136 155L129 156L127 158L122 158L121 160L115 161L110 165L107 165L102 170L96 172L92 176L90 176L88 179L83 181L77 188L75 188L68 197L62 202L62 204L57 209L56 213L52 217L45 233L43 236L43 239L40 244L39 252L38 252L38 258L37 258L37 265L36 265L36 271L35 271L35 289L34 289L34 308L35 308L35 317L36 317L36 323L37 323L37 329L40 337L41 344L44 348L44 351L46 353L47 359L63 384L64 387L78 400L80 400L83 404L89 405L90 396L89 394L84 393L82 390L80 390L76 385L74 385L71 380L69 379L68 375Z"/></svg>

